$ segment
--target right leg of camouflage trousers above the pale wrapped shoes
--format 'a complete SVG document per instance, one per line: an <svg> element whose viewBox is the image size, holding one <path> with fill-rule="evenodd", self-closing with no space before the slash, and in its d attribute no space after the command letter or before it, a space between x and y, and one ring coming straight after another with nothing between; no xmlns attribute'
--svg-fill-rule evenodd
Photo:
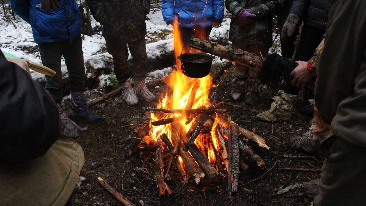
<svg viewBox="0 0 366 206"><path fill-rule="evenodd" d="M147 76L145 37L129 42L128 48L132 56L132 77L134 80L144 80Z"/></svg>

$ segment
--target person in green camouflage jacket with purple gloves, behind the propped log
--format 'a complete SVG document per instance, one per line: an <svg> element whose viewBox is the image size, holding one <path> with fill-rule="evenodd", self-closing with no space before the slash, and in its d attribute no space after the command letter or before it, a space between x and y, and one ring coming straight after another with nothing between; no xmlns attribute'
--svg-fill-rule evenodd
<svg viewBox="0 0 366 206"><path fill-rule="evenodd" d="M234 48L266 57L272 46L272 17L276 0L226 0L226 9L232 14L230 37ZM258 79L254 71L236 64L234 100L252 104L258 102Z"/></svg>

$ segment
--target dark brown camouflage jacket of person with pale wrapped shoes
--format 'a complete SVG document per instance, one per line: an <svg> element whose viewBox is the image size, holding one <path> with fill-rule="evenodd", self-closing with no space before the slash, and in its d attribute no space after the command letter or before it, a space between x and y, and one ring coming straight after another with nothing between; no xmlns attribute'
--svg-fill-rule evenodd
<svg viewBox="0 0 366 206"><path fill-rule="evenodd" d="M146 35L150 0L86 0L103 36L110 41L131 42Z"/></svg>

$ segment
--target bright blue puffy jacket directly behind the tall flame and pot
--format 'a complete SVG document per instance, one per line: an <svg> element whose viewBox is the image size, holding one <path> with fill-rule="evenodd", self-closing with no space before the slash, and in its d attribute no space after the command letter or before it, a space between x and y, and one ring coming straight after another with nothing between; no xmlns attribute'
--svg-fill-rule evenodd
<svg viewBox="0 0 366 206"><path fill-rule="evenodd" d="M161 12L167 24L176 16L181 27L209 27L222 22L224 0L161 0Z"/></svg>

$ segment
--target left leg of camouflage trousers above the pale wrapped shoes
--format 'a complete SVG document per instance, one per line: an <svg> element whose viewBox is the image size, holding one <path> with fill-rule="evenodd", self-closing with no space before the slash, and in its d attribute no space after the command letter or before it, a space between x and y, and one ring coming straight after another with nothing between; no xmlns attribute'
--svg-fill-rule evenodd
<svg viewBox="0 0 366 206"><path fill-rule="evenodd" d="M126 42L112 42L105 40L108 53L113 56L113 68L116 78L120 83L126 82L131 77L131 70L128 67L128 50Z"/></svg>

